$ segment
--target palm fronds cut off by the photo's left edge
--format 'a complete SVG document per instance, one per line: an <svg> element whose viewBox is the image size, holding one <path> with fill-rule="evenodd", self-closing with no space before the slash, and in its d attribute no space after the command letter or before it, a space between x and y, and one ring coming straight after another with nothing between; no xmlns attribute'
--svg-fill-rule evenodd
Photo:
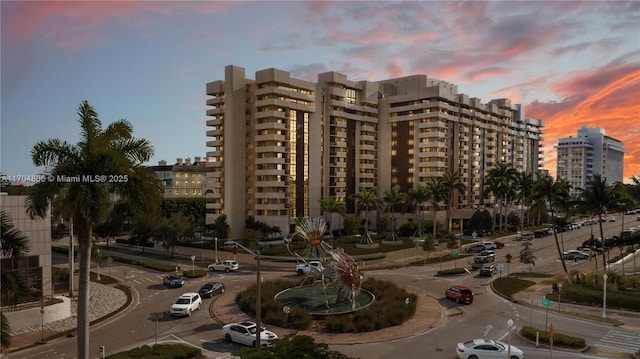
<svg viewBox="0 0 640 359"><path fill-rule="evenodd" d="M29 251L29 240L13 226L9 215L0 211L0 252L3 257L22 257ZM24 281L15 272L3 268L0 271L0 298L3 305L15 305L29 295ZM11 345L11 328L4 313L0 314L0 351Z"/></svg>

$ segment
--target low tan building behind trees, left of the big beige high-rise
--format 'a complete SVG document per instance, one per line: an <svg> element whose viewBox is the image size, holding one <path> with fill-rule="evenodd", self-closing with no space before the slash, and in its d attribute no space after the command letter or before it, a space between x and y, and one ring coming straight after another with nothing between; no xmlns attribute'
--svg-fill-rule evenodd
<svg viewBox="0 0 640 359"><path fill-rule="evenodd" d="M204 197L206 191L207 158L178 158L176 163L158 161L157 166L149 167L162 182L164 198Z"/></svg>

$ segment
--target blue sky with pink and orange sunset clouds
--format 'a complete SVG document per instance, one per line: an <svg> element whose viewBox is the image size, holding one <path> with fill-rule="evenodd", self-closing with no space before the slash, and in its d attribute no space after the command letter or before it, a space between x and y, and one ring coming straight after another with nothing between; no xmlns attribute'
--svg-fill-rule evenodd
<svg viewBox="0 0 640 359"><path fill-rule="evenodd" d="M640 176L640 1L1 1L0 171L42 173L76 143L84 100L160 160L206 156L206 84L236 65L316 81L424 74L544 121L544 168L582 125L624 141Z"/></svg>

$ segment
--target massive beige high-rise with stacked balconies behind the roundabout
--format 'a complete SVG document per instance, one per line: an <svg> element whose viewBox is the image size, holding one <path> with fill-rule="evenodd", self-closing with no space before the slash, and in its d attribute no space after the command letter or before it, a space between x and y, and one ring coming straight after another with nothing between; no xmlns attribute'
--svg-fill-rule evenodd
<svg viewBox="0 0 640 359"><path fill-rule="evenodd" d="M227 66L207 95L207 223L225 214L234 238L248 216L288 233L296 218L321 215L320 199L334 196L353 213L350 195L362 187L406 192L447 170L467 187L452 204L460 228L492 204L483 181L497 161L527 173L542 164L542 121L425 75L370 82L326 72L314 83L278 69L251 80Z"/></svg>

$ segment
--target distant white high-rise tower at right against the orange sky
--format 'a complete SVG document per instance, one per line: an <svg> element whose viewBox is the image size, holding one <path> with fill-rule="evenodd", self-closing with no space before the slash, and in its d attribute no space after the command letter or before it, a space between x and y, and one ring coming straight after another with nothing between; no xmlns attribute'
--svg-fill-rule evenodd
<svg viewBox="0 0 640 359"><path fill-rule="evenodd" d="M624 143L606 135L600 127L583 125L575 137L558 140L557 178L571 185L572 194L584 189L594 175L607 184L624 180Z"/></svg>

